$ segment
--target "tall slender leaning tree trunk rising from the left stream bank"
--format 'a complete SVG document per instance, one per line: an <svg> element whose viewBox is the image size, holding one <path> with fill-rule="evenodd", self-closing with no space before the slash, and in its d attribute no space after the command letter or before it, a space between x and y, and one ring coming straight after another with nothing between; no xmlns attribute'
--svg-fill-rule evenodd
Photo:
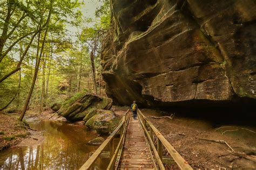
<svg viewBox="0 0 256 170"><path fill-rule="evenodd" d="M19 117L19 120L21 120L21 121L22 121L22 119L23 119L23 117L24 117L24 115L26 113L26 108L29 105L29 100L31 98L31 95L32 95L32 92L33 92L33 88L34 88L35 83L36 83L37 73L38 73L38 69L39 69L39 65L40 65L40 61L41 61L41 57L42 57L42 53L43 53L43 49L44 49L46 34L47 34L47 31L48 31L48 25L49 25L49 22L50 22L51 10L52 10L52 6L50 7L49 15L48 15L48 18L47 18L47 21L46 21L46 30L44 32L44 38L43 38L43 42L42 42L42 47L41 47L40 55L39 55L39 57L37 57L36 66L35 66L35 72L34 72L34 75L33 75L32 84L31 84L31 87L30 87L30 90L29 90L28 97L26 98L25 106L23 108L21 117ZM41 30L41 28L39 28L39 30ZM40 42L40 32L39 32L39 35L38 35L37 56L38 56L38 53L39 53L39 42Z"/></svg>

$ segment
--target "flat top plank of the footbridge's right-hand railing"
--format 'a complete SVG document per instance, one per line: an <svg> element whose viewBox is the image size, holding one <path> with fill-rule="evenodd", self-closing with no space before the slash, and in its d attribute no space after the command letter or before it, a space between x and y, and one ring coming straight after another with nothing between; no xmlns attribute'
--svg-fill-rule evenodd
<svg viewBox="0 0 256 170"><path fill-rule="evenodd" d="M149 120L147 120L145 115L140 110L139 110L139 115L142 115L143 119L145 119L147 124L150 125L154 134L156 134L157 138L161 141L161 143L164 145L164 147L170 153L171 157L174 159L174 161L177 163L177 165L181 169L193 169L187 163L187 161L183 157L181 157L181 155L176 151L176 149L174 149L174 147L164 138L164 136L157 130L157 128L154 127L154 125Z"/></svg>

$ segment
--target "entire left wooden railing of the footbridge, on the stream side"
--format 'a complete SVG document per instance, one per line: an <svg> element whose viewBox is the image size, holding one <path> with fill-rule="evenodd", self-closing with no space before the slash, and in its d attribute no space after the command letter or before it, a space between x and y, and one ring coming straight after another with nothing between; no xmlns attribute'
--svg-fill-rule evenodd
<svg viewBox="0 0 256 170"><path fill-rule="evenodd" d="M94 164L96 160L100 157L100 154L103 153L104 149L109 146L109 152L110 152L110 163L107 169L114 169L114 164L117 163L117 166L119 162L116 162L118 155L122 155L123 151L123 144L124 144L124 139L125 139L125 134L126 134L126 128L127 124L129 122L129 110L126 111L125 115L123 118L120 120L118 126L114 129L114 131L109 135L109 137L106 138L106 140L103 142L102 145L98 147L98 149L91 155L91 157L84 163L80 169L93 169ZM116 149L114 148L114 137L118 134L120 131L120 140L118 142L118 145ZM119 158L120 160L120 158ZM116 166L116 167L117 167Z"/></svg>

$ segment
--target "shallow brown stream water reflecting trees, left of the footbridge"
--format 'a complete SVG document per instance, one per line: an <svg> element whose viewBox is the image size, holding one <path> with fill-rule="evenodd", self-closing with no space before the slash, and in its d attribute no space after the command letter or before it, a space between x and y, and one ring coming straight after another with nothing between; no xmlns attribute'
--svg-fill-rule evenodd
<svg viewBox="0 0 256 170"><path fill-rule="evenodd" d="M85 126L59 121L27 120L30 127L43 131L44 141L38 146L12 147L0 153L0 169L79 169L97 149L87 144L96 133ZM97 162L96 169L105 167Z"/></svg>

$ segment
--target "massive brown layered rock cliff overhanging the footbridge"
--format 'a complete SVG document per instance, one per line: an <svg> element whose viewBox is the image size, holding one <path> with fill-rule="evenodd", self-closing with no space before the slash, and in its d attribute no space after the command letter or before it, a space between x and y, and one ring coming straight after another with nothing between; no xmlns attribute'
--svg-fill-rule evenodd
<svg viewBox="0 0 256 170"><path fill-rule="evenodd" d="M112 0L106 93L146 106L256 99L256 3Z"/></svg>

